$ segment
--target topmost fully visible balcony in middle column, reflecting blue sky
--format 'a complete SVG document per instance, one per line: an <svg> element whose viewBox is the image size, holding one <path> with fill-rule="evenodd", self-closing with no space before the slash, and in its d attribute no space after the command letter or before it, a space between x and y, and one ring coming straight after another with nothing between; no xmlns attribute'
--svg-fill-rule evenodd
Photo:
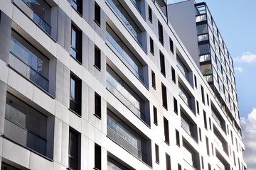
<svg viewBox="0 0 256 170"><path fill-rule="evenodd" d="M127 45L122 42L122 40L108 25L106 28L106 39L107 45L114 52L114 54L117 55L119 60L121 60L127 66L127 68L137 77L137 79L145 84L143 77L144 68L142 63L137 60L137 57L135 57Z"/></svg>

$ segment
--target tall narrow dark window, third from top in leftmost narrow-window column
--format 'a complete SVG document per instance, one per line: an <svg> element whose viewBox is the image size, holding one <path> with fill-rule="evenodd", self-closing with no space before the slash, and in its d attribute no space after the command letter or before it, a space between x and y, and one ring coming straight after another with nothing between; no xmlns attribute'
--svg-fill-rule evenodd
<svg viewBox="0 0 256 170"><path fill-rule="evenodd" d="M78 115L81 115L81 85L81 80L70 74L70 109Z"/></svg>

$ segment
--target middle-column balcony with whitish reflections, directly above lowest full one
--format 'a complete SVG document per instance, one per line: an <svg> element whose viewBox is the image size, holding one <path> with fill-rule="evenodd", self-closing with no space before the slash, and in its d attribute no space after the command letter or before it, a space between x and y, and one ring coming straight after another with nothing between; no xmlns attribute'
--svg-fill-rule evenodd
<svg viewBox="0 0 256 170"><path fill-rule="evenodd" d="M145 103L110 67L107 66L107 89L134 115L149 125L144 113Z"/></svg>

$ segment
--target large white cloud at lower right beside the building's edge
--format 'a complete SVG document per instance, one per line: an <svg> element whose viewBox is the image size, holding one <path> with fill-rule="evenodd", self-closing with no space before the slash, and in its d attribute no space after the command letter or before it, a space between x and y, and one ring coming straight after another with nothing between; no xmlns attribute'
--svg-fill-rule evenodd
<svg viewBox="0 0 256 170"><path fill-rule="evenodd" d="M256 108L247 118L241 118L242 125L242 140L245 144L245 152L243 153L247 169L256 170Z"/></svg>

